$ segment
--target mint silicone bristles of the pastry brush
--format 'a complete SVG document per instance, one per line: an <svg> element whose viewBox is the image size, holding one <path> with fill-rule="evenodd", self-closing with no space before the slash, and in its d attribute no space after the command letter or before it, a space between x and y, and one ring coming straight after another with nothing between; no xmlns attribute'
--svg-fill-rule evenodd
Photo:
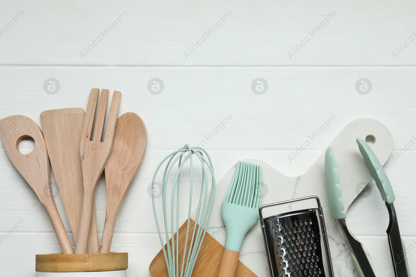
<svg viewBox="0 0 416 277"><path fill-rule="evenodd" d="M224 202L249 208L260 208L263 192L260 165L238 161Z"/></svg>

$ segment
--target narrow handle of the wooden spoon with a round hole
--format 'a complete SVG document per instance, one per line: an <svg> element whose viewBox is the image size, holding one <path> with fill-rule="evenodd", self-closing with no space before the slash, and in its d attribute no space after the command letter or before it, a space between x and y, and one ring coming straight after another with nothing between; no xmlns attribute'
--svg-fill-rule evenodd
<svg viewBox="0 0 416 277"><path fill-rule="evenodd" d="M52 223L52 228L55 231L62 254L74 254L74 249L72 249L71 242L69 241L67 231L65 230L64 224L59 216L55 201L50 199L47 203L42 203L42 205Z"/></svg>

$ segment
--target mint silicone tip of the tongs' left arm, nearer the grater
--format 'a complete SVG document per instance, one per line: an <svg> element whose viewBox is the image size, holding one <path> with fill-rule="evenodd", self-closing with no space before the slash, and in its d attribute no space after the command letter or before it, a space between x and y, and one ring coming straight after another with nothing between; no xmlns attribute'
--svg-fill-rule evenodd
<svg viewBox="0 0 416 277"><path fill-rule="evenodd" d="M347 215L345 214L344 202L342 201L341 187L339 186L337 163L335 162L334 152L331 147L325 153L325 183L332 217L335 219L346 218Z"/></svg>

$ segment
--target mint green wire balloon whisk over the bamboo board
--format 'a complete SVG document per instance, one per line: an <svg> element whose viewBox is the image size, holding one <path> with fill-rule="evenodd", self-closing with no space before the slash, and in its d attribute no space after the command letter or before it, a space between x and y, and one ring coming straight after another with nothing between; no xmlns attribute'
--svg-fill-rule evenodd
<svg viewBox="0 0 416 277"><path fill-rule="evenodd" d="M206 157L204 157L204 154ZM185 156L185 157L183 157ZM192 236L191 236L191 243L189 245L188 255L186 256L186 249L188 247L188 238L190 235L190 222L191 222L191 213L192 213L192 191L193 191L193 156L198 157L199 162L202 165L202 181L201 181L201 194L198 201L198 208L195 218L195 225L193 226ZM162 181L162 206L163 206L163 221L165 225L165 234L166 234L166 244L168 245L167 251L165 250L165 243L163 242L162 233L159 227L158 217L156 214L156 205L155 205L155 198L154 198L154 184L156 180L156 175L162 166L162 164L167 160L168 163L166 165L165 171L163 173L163 181ZM185 238L185 246L182 255L182 261L180 263L179 258L179 189L180 189L180 179L181 179L181 169L183 165L189 160L190 163L190 195L189 195L189 208L188 208L188 221L186 226L186 238ZM168 179L171 175L172 169L175 166L176 162L178 162L178 169L176 172L175 179L172 185L172 197L171 203L166 203L166 191L168 187ZM211 190L208 199L208 174L207 169L211 174ZM175 172L173 172L175 174ZM188 187L188 186L186 186ZM176 196L176 197L175 197ZM168 276L169 277L191 277L193 267L195 266L196 258L198 257L199 250L201 249L202 242L204 240L206 234L206 228L208 227L208 223L211 218L211 213L214 205L214 198L215 198L215 177L214 177L214 169L212 166L211 159L208 153L202 147L191 147L189 145L185 145L181 149L178 149L167 157L165 157L162 162L156 168L155 174L153 176L152 181L152 203L153 203L153 212L156 221L156 227L159 233L159 239L162 244L163 254L165 255L166 266L168 268ZM171 212L171 233L172 233L172 240L169 243L169 230L168 230L168 211L167 208L170 206ZM176 220L175 220L175 213L176 213ZM176 224L175 224L176 221ZM196 230L197 224L199 225L198 230ZM176 228L175 228L176 225ZM175 230L176 229L176 230ZM174 238L174 233L176 233L176 243Z"/></svg>

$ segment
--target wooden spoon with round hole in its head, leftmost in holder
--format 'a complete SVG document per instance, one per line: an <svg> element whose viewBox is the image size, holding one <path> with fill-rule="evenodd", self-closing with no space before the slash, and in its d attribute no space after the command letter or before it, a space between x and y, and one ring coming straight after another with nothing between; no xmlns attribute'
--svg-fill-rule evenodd
<svg viewBox="0 0 416 277"><path fill-rule="evenodd" d="M73 254L74 250L52 195L49 157L42 131L35 121L23 115L3 118L0 120L0 130L7 155L45 207L62 253ZM21 154L18 150L20 141L25 137L32 137L35 141L35 148L29 154Z"/></svg>

